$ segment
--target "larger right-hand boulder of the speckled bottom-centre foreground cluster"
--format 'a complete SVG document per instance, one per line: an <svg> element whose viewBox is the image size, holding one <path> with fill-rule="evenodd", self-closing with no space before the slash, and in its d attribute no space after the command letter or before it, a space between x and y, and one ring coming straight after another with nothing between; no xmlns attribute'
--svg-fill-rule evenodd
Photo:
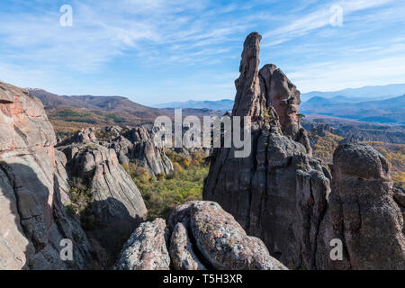
<svg viewBox="0 0 405 288"><path fill-rule="evenodd" d="M283 270L259 238L245 230L216 202L195 202L191 207L190 228L196 246L216 269Z"/></svg>

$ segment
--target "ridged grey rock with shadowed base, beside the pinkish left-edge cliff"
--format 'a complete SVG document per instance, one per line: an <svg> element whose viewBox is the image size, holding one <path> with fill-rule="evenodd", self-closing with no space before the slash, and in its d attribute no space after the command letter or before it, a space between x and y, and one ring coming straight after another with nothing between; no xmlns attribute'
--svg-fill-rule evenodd
<svg viewBox="0 0 405 288"><path fill-rule="evenodd" d="M120 165L113 149L94 142L59 147L66 155L70 195L85 194L82 224L112 254L145 220L147 209L138 187ZM65 182L62 182L65 183Z"/></svg>

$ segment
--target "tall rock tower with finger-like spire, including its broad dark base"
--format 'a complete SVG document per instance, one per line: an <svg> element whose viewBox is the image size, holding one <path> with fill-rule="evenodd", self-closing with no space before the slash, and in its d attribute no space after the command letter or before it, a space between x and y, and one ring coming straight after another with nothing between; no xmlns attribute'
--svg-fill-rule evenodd
<svg viewBox="0 0 405 288"><path fill-rule="evenodd" d="M292 267L314 267L330 174L311 157L297 116L300 93L275 65L258 69L261 36L247 36L232 116L250 116L252 153L214 149L203 199L219 202L247 233ZM315 241L315 242L314 242Z"/></svg>

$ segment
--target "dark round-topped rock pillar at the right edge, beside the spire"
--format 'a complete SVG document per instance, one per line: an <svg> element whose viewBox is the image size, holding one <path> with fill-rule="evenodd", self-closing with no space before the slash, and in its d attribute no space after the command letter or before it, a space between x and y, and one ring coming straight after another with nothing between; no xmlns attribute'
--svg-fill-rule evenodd
<svg viewBox="0 0 405 288"><path fill-rule="evenodd" d="M392 190L387 160L362 144L340 145L333 155L332 193L321 224L322 268L405 269L404 218ZM331 261L329 241L344 245L342 261ZM326 250L326 251L325 251Z"/></svg>

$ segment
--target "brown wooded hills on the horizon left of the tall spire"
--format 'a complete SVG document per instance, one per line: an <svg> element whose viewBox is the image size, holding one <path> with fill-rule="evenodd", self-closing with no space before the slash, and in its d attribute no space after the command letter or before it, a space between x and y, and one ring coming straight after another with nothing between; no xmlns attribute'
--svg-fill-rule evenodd
<svg viewBox="0 0 405 288"><path fill-rule="evenodd" d="M58 95L43 89L28 89L31 96L40 99L57 134L89 126L138 125L153 123L157 116L174 117L174 109L157 109L134 103L121 96ZM183 116L223 115L211 109L184 108Z"/></svg>

